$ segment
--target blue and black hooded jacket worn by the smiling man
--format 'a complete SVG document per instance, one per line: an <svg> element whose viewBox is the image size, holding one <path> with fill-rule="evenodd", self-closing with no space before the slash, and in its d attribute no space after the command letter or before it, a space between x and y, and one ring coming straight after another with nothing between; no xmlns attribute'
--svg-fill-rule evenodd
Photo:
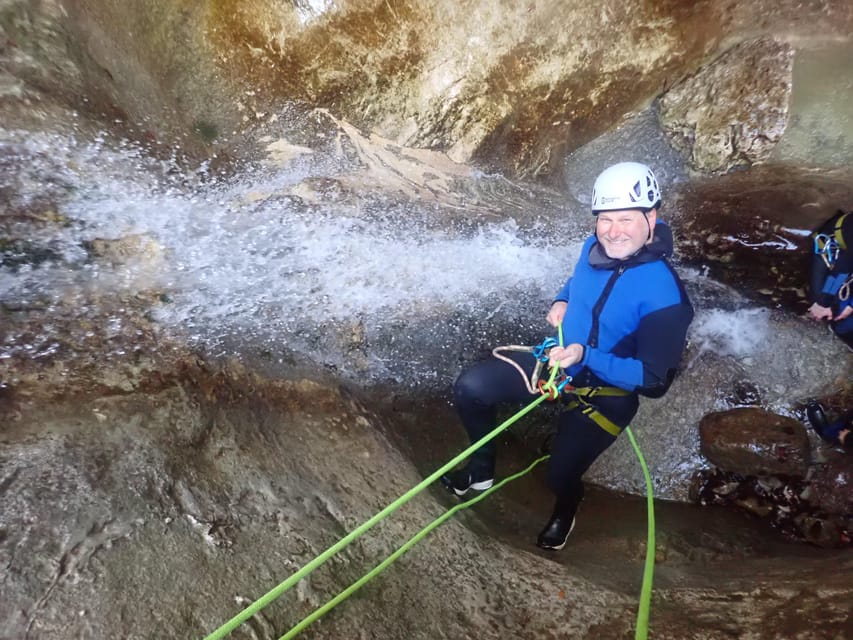
<svg viewBox="0 0 853 640"><path fill-rule="evenodd" d="M615 386L658 398L684 351L693 306L667 261L672 232L658 222L654 239L634 256L613 260L593 236L556 300L568 303L563 343L584 345L570 367L575 386Z"/></svg>

